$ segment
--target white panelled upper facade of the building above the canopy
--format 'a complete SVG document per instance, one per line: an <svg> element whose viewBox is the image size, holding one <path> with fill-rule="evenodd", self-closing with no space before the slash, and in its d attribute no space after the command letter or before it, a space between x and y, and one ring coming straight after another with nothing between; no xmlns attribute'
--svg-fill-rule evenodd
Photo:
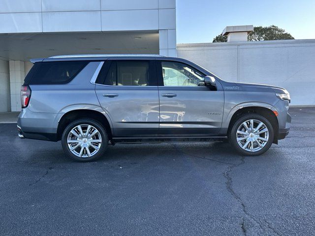
<svg viewBox="0 0 315 236"><path fill-rule="evenodd" d="M0 33L176 29L176 0L0 0Z"/></svg>

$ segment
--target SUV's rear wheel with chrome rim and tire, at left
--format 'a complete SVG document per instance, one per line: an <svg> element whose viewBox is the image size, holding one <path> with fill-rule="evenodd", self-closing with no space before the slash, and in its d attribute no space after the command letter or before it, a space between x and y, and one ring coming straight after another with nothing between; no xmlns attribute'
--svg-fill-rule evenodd
<svg viewBox="0 0 315 236"><path fill-rule="evenodd" d="M107 145L106 130L93 119L79 119L71 122L62 136L63 150L76 161L95 161L104 154Z"/></svg>

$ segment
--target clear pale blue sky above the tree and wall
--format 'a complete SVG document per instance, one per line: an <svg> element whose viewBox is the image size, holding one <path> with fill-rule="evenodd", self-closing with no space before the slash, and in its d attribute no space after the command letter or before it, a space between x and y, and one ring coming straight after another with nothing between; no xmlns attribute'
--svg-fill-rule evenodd
<svg viewBox="0 0 315 236"><path fill-rule="evenodd" d="M275 25L315 39L315 0L176 0L177 43L206 43L226 26Z"/></svg>

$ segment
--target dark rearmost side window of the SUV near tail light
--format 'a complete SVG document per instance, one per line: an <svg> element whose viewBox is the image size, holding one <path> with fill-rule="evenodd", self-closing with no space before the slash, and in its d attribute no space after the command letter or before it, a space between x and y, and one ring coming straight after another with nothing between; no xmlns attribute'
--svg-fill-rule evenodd
<svg viewBox="0 0 315 236"><path fill-rule="evenodd" d="M32 76L30 84L31 85L67 84L87 64L88 64L87 61L41 62L39 63L38 68L36 68L36 71Z"/></svg>

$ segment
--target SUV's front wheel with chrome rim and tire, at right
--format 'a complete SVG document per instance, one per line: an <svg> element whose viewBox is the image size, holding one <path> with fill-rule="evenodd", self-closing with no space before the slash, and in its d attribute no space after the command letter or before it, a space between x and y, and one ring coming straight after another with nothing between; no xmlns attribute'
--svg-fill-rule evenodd
<svg viewBox="0 0 315 236"><path fill-rule="evenodd" d="M256 156L267 151L274 140L274 130L268 119L257 114L244 115L235 120L229 141L242 155Z"/></svg>

